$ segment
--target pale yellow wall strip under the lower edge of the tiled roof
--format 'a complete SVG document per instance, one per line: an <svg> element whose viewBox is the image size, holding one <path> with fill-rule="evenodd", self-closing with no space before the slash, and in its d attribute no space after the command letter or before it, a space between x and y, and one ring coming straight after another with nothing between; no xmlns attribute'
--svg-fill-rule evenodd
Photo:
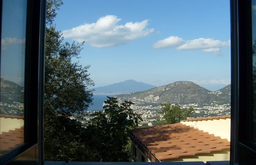
<svg viewBox="0 0 256 165"><path fill-rule="evenodd" d="M191 162L191 161L203 161L206 163L207 161L229 161L230 152L229 149L218 151L218 152L211 152L205 154L196 154L195 156L186 156L180 157L176 159L167 159L163 160L162 162Z"/></svg>

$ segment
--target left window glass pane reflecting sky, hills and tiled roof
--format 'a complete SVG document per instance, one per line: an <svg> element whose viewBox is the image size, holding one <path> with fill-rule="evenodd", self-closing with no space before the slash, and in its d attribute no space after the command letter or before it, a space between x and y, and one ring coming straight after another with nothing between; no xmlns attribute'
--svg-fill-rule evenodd
<svg viewBox="0 0 256 165"><path fill-rule="evenodd" d="M0 155L24 142L26 0L3 0Z"/></svg>

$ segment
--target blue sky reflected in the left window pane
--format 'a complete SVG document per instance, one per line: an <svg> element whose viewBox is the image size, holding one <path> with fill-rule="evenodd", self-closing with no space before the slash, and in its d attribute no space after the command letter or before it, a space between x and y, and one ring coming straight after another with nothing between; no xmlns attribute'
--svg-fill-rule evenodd
<svg viewBox="0 0 256 165"><path fill-rule="evenodd" d="M0 74L21 86L25 76L26 6L21 0L3 1Z"/></svg>

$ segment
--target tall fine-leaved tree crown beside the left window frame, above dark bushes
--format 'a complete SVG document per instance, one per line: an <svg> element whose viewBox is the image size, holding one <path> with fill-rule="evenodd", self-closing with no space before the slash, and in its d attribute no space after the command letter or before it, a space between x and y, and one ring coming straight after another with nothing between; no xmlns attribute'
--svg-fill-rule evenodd
<svg viewBox="0 0 256 165"><path fill-rule="evenodd" d="M82 67L72 58L78 58L82 44L62 44L63 38L54 26L46 27L45 46L45 112L55 111L70 116L84 111L92 102L94 85L87 73L88 66Z"/></svg>

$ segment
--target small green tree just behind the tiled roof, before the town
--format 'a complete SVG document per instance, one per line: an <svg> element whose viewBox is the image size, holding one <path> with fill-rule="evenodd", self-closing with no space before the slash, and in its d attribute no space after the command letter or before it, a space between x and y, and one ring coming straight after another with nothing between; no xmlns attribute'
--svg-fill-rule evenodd
<svg viewBox="0 0 256 165"><path fill-rule="evenodd" d="M181 120L185 120L187 117L191 116L194 109L193 107L181 109L181 106L171 105L170 103L161 104L162 111L157 118L160 125L178 123Z"/></svg>

